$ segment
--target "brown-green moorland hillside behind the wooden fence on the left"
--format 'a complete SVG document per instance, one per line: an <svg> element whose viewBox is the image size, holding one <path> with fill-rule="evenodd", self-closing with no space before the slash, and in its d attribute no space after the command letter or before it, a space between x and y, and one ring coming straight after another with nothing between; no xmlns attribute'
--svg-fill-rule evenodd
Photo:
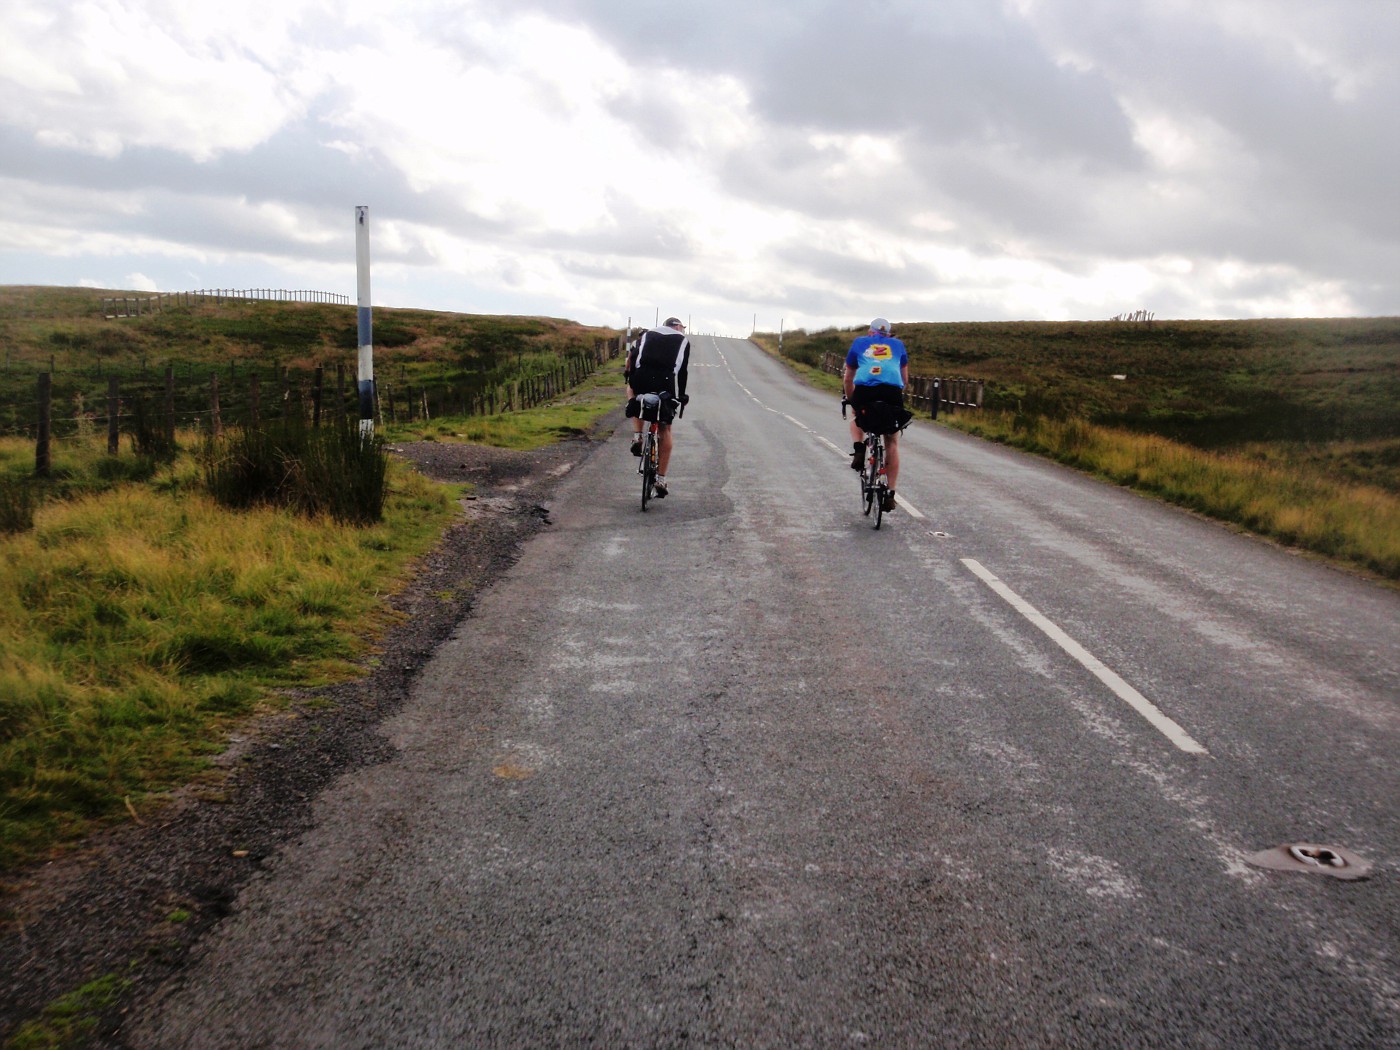
<svg viewBox="0 0 1400 1050"><path fill-rule="evenodd" d="M0 434L34 433L36 379L50 371L57 434L94 417L101 424L113 377L123 410L158 403L167 368L174 370L181 426L200 424L214 375L225 419L248 413L253 375L263 410L276 412L284 391L307 396L316 368L323 370L328 409L354 410L354 307L210 298L104 319L102 298L119 294L130 293L0 287ZM417 417L424 396L434 416L466 405L494 410L507 399L518 405L522 391L533 403L546 382L557 389L570 367L577 377L580 354L616 335L557 318L377 308L374 367L384 417Z"/></svg>

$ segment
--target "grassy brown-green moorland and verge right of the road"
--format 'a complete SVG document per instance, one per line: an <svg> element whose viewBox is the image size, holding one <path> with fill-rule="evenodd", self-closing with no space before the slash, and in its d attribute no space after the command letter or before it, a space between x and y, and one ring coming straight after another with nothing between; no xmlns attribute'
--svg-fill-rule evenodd
<svg viewBox="0 0 1400 1050"><path fill-rule="evenodd" d="M857 329L788 332L820 367ZM897 325L944 421L1400 580L1400 318ZM776 335L760 336L769 347Z"/></svg>

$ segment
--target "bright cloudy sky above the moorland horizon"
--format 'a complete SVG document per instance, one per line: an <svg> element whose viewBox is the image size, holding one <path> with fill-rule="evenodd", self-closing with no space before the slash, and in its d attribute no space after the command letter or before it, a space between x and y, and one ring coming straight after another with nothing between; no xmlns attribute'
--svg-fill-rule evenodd
<svg viewBox="0 0 1400 1050"><path fill-rule="evenodd" d="M1400 314L1400 0L0 0L0 284Z"/></svg>

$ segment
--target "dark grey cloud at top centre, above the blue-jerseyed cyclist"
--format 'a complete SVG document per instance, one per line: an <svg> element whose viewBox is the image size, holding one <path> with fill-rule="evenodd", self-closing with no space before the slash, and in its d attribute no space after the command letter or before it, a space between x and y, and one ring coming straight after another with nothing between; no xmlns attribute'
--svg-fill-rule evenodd
<svg viewBox="0 0 1400 1050"><path fill-rule="evenodd" d="M1015 140L1032 153L1138 162L1110 87L1057 66L1026 27L980 0L526 6L587 24L638 64L735 74L778 126Z"/></svg>

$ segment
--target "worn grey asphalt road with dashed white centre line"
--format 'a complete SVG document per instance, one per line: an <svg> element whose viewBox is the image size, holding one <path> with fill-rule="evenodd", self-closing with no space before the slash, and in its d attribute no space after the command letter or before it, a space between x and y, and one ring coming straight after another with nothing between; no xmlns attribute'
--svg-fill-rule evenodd
<svg viewBox="0 0 1400 1050"><path fill-rule="evenodd" d="M1400 1046L1400 595L696 343L136 1046Z"/></svg>

